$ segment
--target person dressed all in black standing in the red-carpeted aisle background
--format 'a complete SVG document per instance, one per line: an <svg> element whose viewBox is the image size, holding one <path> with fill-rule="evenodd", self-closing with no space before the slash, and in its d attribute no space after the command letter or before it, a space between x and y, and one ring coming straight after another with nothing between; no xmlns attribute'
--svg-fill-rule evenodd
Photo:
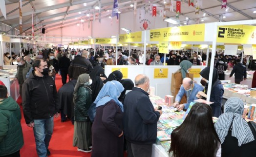
<svg viewBox="0 0 256 157"><path fill-rule="evenodd" d="M70 65L70 60L67 58L67 53L63 53L63 57L59 60L59 67L61 70L61 76L62 76L62 84L66 84L66 78L68 74L68 67Z"/></svg>

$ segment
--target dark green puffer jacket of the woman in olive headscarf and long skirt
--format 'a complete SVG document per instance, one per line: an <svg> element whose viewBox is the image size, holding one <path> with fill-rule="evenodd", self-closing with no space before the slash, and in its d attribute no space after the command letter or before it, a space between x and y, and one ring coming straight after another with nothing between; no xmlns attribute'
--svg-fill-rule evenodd
<svg viewBox="0 0 256 157"><path fill-rule="evenodd" d="M90 121L88 117L88 109L91 105L91 94L83 85L77 90L77 98L75 99L74 120Z"/></svg>

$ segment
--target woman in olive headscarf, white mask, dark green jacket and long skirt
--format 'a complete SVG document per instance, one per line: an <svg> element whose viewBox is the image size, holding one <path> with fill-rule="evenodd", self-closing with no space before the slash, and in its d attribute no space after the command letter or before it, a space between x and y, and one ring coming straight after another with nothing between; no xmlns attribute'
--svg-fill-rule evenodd
<svg viewBox="0 0 256 157"><path fill-rule="evenodd" d="M81 74L74 89L74 138L73 146L80 152L91 152L91 121L88 109L91 105L91 84L89 74Z"/></svg>

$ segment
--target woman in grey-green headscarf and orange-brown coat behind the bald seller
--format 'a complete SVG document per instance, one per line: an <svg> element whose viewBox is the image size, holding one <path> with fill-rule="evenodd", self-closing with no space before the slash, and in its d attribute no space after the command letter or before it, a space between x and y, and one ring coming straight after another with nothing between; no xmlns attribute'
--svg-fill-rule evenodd
<svg viewBox="0 0 256 157"><path fill-rule="evenodd" d="M192 63L189 60L183 60L180 62L180 69L178 69L174 73L175 78L175 93L174 93L174 100L176 95L180 90L180 86L182 85L183 78L189 78L189 71L191 70ZM180 104L187 103L187 98L184 95L180 101Z"/></svg>

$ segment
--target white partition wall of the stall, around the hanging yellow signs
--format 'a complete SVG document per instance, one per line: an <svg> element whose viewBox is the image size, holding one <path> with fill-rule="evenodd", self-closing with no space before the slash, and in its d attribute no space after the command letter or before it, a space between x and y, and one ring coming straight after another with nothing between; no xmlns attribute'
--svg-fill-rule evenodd
<svg viewBox="0 0 256 157"><path fill-rule="evenodd" d="M193 65L193 69L204 69L206 66ZM175 65L163 65L163 66L151 66L151 65L106 65L105 74L108 77L112 73L112 68L128 68L128 78L134 82L134 78L139 74L145 74L149 77L150 86L155 87L155 95L165 98L166 95L171 94L171 73L175 73L180 66ZM168 68L168 78L154 78L155 68ZM121 69L122 70L122 69ZM200 84L201 78L194 78L194 80Z"/></svg>

